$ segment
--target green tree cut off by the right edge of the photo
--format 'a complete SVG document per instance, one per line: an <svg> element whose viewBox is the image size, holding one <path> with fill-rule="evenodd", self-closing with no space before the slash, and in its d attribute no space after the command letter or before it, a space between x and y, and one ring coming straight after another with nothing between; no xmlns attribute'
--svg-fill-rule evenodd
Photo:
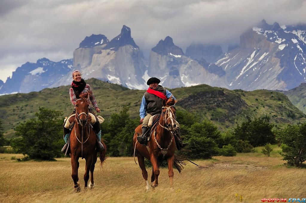
<svg viewBox="0 0 306 203"><path fill-rule="evenodd" d="M306 123L288 125L279 130L276 138L282 143L283 153L280 153L291 166L300 166L306 159Z"/></svg>

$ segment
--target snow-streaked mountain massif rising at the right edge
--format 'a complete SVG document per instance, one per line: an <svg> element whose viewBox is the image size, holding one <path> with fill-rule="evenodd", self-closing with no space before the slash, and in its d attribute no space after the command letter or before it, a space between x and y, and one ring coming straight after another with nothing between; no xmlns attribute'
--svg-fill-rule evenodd
<svg viewBox="0 0 306 203"><path fill-rule="evenodd" d="M306 81L303 26L265 20L240 36L240 45L215 60L231 89L289 90Z"/></svg>

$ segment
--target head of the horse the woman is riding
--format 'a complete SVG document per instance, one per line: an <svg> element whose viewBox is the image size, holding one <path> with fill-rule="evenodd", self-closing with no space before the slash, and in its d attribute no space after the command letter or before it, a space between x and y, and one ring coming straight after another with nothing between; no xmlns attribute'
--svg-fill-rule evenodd
<svg viewBox="0 0 306 203"><path fill-rule="evenodd" d="M81 94L79 97L77 97L75 104L76 120L81 126L87 125L89 103L86 98L88 98L88 93Z"/></svg>

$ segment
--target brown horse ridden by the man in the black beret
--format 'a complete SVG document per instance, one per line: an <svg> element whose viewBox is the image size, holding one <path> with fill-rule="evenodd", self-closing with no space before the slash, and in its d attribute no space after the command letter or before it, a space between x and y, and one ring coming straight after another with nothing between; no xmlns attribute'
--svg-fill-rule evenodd
<svg viewBox="0 0 306 203"><path fill-rule="evenodd" d="M134 151L137 154L139 166L142 170L142 176L146 182L147 192L149 191L148 173L144 164L144 158L151 160L152 163L152 176L151 186L153 189L158 186L159 176L159 163L166 159L168 163L168 176L170 178L170 189L173 190L173 166L177 168L179 173L183 169L182 165L185 162L179 160L174 155L175 141L174 141L174 130L177 128L175 120L175 109L174 104L176 100L169 98L167 101L163 100L162 114L159 121L154 125L150 134L151 138L148 141L149 151L146 146L137 142L137 135L141 132L141 125L135 129L133 137Z"/></svg>

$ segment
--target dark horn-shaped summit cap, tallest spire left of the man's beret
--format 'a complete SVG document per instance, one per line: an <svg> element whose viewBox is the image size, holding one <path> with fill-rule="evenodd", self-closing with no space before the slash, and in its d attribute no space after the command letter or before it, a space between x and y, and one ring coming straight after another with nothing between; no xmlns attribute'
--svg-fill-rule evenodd
<svg viewBox="0 0 306 203"><path fill-rule="evenodd" d="M139 47L136 45L135 41L131 37L131 29L123 25L121 33L114 39L112 39L103 49L111 49L117 51L119 47L123 47L125 45L132 45L134 48L139 49Z"/></svg>

